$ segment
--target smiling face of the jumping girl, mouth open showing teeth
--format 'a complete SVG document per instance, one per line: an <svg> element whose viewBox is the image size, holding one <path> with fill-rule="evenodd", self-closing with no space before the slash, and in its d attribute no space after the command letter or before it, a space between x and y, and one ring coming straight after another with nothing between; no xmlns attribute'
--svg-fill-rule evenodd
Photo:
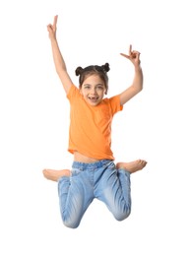
<svg viewBox="0 0 192 256"><path fill-rule="evenodd" d="M89 76L83 83L80 93L93 106L99 104L106 92L103 81L97 75Z"/></svg>

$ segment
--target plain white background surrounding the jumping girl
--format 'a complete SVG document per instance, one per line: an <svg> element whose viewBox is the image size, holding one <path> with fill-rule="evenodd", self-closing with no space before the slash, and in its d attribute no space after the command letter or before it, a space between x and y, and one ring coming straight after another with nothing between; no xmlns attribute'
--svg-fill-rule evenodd
<svg viewBox="0 0 192 256"><path fill-rule="evenodd" d="M132 213L117 222L94 201L77 229L60 218L45 167L70 168L69 104L46 26L58 14L68 71L110 64L108 96L141 52L144 90L114 117L116 161L148 160L131 176ZM0 254L191 256L190 1L7 0L0 3Z"/></svg>

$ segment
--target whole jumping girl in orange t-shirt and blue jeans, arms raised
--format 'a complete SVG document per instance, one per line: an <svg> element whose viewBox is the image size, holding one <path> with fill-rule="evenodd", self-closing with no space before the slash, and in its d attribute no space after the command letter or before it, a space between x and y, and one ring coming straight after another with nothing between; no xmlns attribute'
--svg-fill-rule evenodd
<svg viewBox="0 0 192 256"><path fill-rule="evenodd" d="M102 66L78 67L79 89L69 77L56 39L58 16L47 30L56 72L70 101L68 151L74 155L72 169L44 169L45 178L58 181L60 212L63 223L76 228L96 198L102 201L114 218L125 220L131 212L130 174L144 168L146 160L118 162L111 151L113 115L123 109L130 98L143 89L140 53L129 47L129 59L135 68L132 85L123 93L104 98L108 89L108 63Z"/></svg>

